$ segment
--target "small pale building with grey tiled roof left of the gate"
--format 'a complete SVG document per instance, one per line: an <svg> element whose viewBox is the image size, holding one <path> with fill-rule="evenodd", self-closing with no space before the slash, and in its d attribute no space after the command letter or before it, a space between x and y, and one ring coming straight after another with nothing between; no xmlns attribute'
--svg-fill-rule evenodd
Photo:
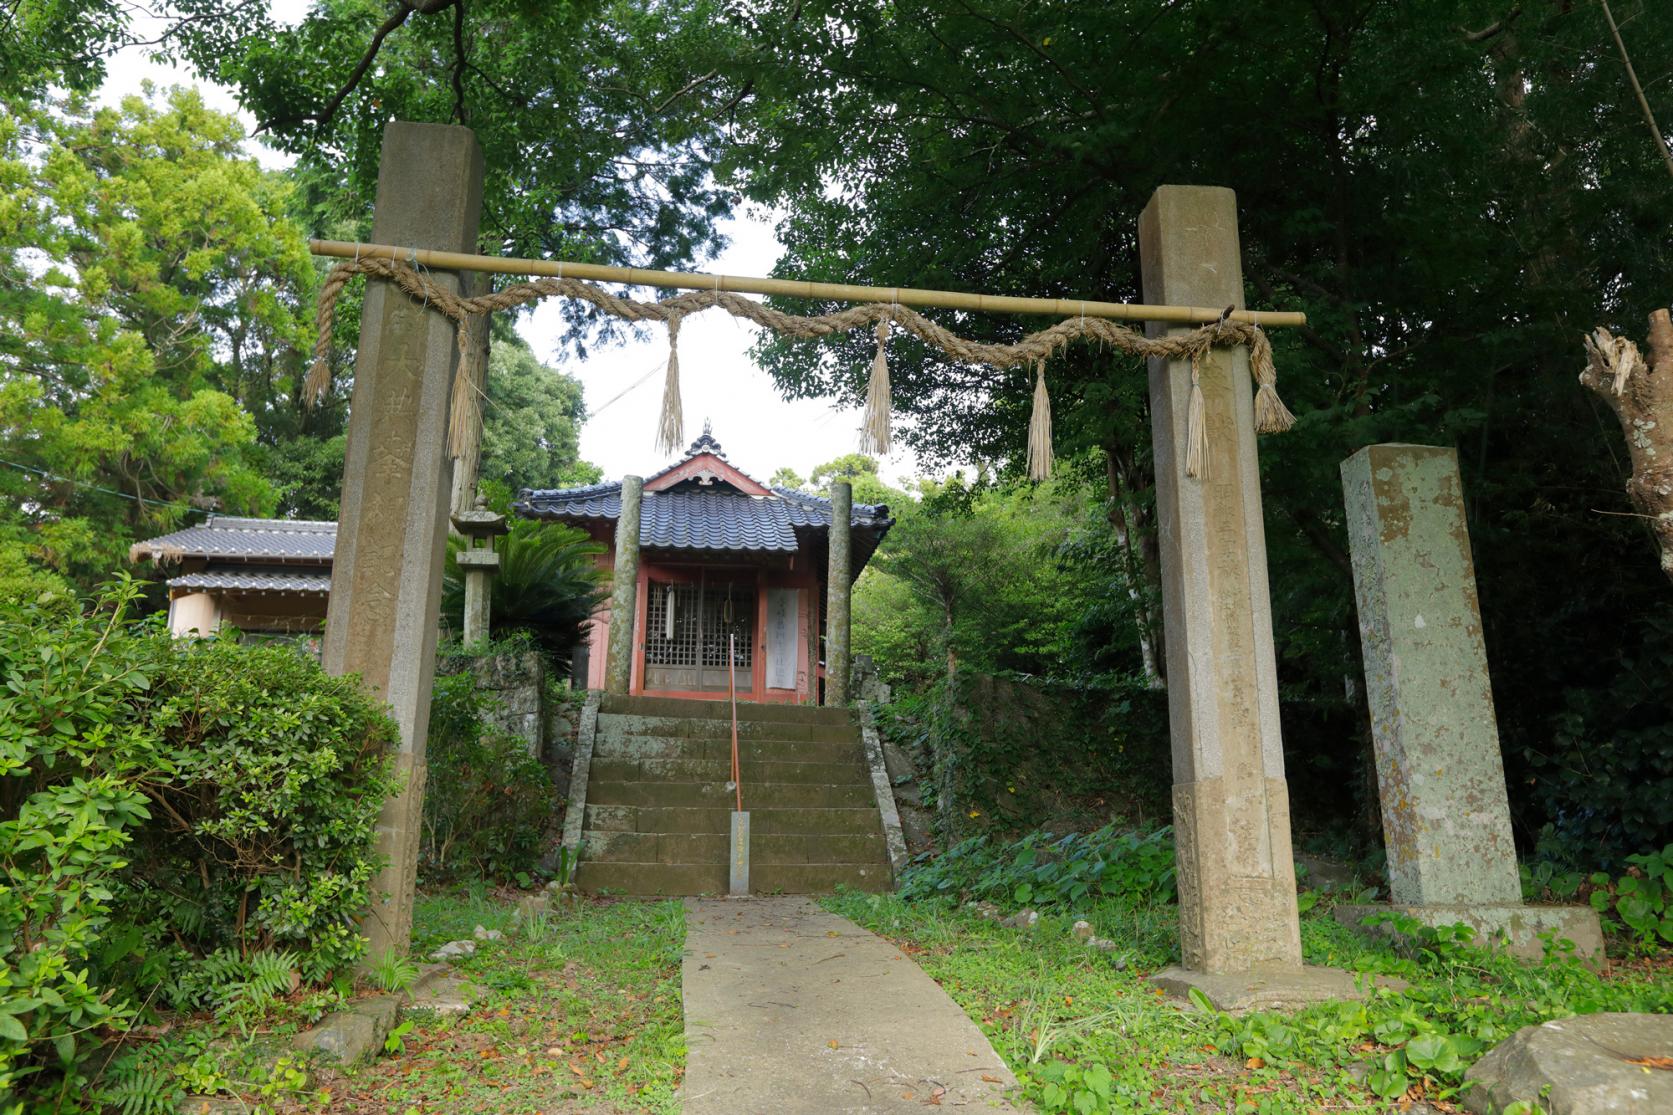
<svg viewBox="0 0 1673 1115"><path fill-rule="evenodd" d="M169 629L207 635L221 624L253 635L316 633L331 593L336 524L209 516L136 542L169 589Z"/></svg>

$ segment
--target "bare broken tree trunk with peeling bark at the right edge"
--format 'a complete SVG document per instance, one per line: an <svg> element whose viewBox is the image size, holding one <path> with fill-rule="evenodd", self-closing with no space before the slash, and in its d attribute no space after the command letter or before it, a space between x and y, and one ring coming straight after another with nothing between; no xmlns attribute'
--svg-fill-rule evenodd
<svg viewBox="0 0 1673 1115"><path fill-rule="evenodd" d="M1626 494L1645 512L1661 546L1661 573L1673 579L1673 318L1650 315L1650 363L1638 345L1598 328L1586 338L1579 382L1609 403L1626 435L1633 475Z"/></svg>

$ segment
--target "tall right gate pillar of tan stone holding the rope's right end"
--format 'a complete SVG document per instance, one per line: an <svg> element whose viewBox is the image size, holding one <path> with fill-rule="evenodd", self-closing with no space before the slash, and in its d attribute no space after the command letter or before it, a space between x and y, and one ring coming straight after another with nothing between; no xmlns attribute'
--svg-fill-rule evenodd
<svg viewBox="0 0 1673 1115"><path fill-rule="evenodd" d="M1144 301L1241 308L1235 194L1159 188L1139 259ZM1201 390L1208 467L1193 479L1190 362L1149 362L1184 961L1158 981L1225 1010L1350 994L1345 973L1302 969L1248 353L1213 350Z"/></svg>

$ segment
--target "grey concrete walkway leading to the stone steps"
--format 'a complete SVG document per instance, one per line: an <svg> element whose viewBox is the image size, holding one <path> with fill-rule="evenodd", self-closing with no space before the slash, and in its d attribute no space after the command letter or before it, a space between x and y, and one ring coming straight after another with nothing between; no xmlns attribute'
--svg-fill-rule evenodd
<svg viewBox="0 0 1673 1115"><path fill-rule="evenodd" d="M1019 1112L975 1023L805 897L686 899L686 1115Z"/></svg>

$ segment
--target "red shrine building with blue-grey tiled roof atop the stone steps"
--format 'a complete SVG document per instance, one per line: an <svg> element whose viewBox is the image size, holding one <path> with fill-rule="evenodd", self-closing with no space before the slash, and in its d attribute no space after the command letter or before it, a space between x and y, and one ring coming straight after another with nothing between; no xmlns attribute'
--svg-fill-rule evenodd
<svg viewBox="0 0 1673 1115"><path fill-rule="evenodd" d="M614 482L524 489L512 509L587 531L612 569L621 502ZM887 506L853 506L842 524L853 578L892 526ZM704 424L681 460L644 480L629 693L721 700L734 676L741 700L816 701L830 531L830 501L744 475ZM612 623L606 601L577 648L577 686L604 688Z"/></svg>

